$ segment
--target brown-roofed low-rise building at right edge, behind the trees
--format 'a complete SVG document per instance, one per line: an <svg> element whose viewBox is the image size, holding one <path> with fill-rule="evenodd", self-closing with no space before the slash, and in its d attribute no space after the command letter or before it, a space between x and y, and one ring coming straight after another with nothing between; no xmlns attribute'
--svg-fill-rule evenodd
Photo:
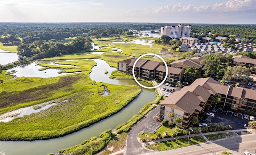
<svg viewBox="0 0 256 155"><path fill-rule="evenodd" d="M253 67L252 73L256 73L256 59L252 59L244 55L237 55L232 57L231 66L245 66L248 69L251 69L251 67Z"/></svg>

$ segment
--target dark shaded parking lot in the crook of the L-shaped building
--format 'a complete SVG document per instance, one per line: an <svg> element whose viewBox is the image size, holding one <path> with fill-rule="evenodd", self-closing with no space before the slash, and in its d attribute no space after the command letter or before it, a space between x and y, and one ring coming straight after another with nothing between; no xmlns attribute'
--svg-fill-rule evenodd
<svg viewBox="0 0 256 155"><path fill-rule="evenodd" d="M246 124L246 127L248 127L250 118L244 119L244 116L240 113L238 113L237 116L231 116L233 114L234 113L231 111L226 111L225 113L218 109L214 119L212 120L212 123L218 123L224 126L231 125L232 129L244 129L244 124Z"/></svg>

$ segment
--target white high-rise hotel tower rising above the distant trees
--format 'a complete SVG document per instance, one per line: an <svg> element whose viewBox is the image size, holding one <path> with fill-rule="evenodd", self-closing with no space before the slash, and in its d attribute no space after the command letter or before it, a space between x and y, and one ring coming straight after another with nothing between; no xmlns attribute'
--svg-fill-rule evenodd
<svg viewBox="0 0 256 155"><path fill-rule="evenodd" d="M160 35L167 35L174 38L190 37L191 25L184 26L184 24L178 24L178 26L166 25L161 27Z"/></svg>

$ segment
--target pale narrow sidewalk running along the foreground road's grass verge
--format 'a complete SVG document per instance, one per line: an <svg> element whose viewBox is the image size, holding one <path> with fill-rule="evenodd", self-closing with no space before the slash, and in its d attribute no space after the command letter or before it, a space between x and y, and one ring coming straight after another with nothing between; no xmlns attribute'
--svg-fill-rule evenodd
<svg viewBox="0 0 256 155"><path fill-rule="evenodd" d="M190 134L189 137L194 137L194 136L203 136L203 137L205 137L205 135L212 135L212 134L218 134L218 133L253 131L253 130L255 130L255 129L238 129L238 130L215 131L215 132L207 132L207 133ZM168 137L168 138L164 138L164 139L156 139L156 140L153 140L153 141L144 141L142 143L142 145L150 145L150 144L161 142L161 141L170 141L170 140L173 140L173 139L181 139L181 138L188 138L188 135L181 135L181 136L177 136L177 137ZM206 138L206 141L208 141L207 138Z"/></svg>

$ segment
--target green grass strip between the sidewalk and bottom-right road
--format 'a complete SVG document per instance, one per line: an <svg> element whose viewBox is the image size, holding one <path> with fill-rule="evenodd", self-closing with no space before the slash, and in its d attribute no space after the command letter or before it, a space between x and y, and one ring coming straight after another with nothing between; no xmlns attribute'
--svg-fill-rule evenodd
<svg viewBox="0 0 256 155"><path fill-rule="evenodd" d="M204 142L206 141L202 136L196 136L196 137L190 137L189 143L188 143L188 138L182 138L182 139L174 139L170 141L162 141L162 142L154 143L152 145L145 145L145 146L150 149L154 149L156 151L166 151L166 150L178 149L178 148L186 147L190 145L196 145Z"/></svg>

